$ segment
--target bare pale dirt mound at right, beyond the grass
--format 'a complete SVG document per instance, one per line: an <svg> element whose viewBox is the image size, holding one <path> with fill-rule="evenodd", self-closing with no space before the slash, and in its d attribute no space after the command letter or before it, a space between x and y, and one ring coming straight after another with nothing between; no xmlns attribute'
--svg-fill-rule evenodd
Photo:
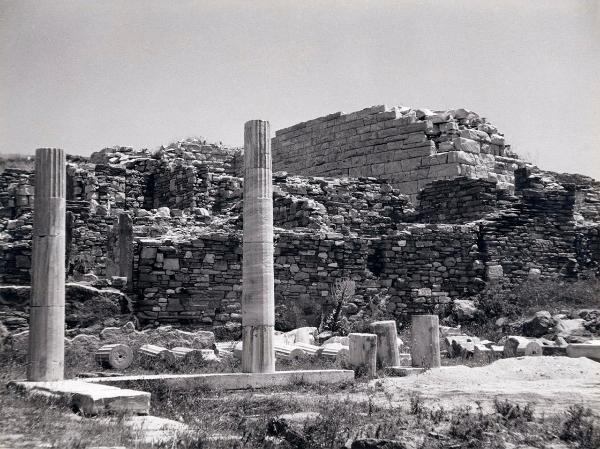
<svg viewBox="0 0 600 449"><path fill-rule="evenodd" d="M600 415L600 363L587 358L519 357L470 368L445 366L421 375L370 382L392 401L419 394L444 408L473 404L490 407L494 398L537 404L548 414L581 404Z"/></svg>

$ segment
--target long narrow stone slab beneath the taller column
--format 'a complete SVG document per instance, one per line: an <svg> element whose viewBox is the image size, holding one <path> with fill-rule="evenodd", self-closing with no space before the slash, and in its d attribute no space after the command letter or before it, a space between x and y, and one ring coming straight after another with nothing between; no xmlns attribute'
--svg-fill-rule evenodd
<svg viewBox="0 0 600 449"><path fill-rule="evenodd" d="M277 371L275 373L155 374L142 376L98 377L86 382L135 387L156 383L175 390L245 390L294 384L339 384L354 380L352 370Z"/></svg>

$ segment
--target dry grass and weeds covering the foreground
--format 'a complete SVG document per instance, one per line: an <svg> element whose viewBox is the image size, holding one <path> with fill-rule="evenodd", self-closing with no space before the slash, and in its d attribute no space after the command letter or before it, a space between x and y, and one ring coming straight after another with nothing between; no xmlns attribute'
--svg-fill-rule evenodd
<svg viewBox="0 0 600 449"><path fill-rule="evenodd" d="M0 360L2 381L20 369L8 361ZM299 360L281 364L279 369L319 367L315 363ZM201 369L214 370L214 366ZM600 444L598 420L589 409L573 408L552 419L538 413L533 405L507 401L497 401L491 413L485 413L477 404L446 410L426 403L420 396L398 403L398 398L377 381L338 386L298 383L240 392L178 392L151 384L143 389L152 393L151 414L190 427L190 432L173 445L154 447L263 448L279 441L278 447L282 448L321 449L340 448L348 439L367 437L398 439L420 449L502 448L511 444L542 448L558 442L566 447L590 449ZM300 412L313 415L281 418ZM98 418L84 419L74 415L66 404L41 399L25 401L2 391L0 447L7 442L13 444L14 439L29 445L8 447L34 447L40 441L60 448L148 447L136 442L120 419L116 417L110 424Z"/></svg>

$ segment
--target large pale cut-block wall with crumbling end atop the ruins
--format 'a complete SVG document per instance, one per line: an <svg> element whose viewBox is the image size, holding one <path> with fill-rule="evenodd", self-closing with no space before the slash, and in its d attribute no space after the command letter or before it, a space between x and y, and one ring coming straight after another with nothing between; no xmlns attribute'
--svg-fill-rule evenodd
<svg viewBox="0 0 600 449"><path fill-rule="evenodd" d="M496 180L511 191L519 161L504 136L466 110L374 106L276 131L273 170L305 176L375 176L416 199L433 181Z"/></svg>

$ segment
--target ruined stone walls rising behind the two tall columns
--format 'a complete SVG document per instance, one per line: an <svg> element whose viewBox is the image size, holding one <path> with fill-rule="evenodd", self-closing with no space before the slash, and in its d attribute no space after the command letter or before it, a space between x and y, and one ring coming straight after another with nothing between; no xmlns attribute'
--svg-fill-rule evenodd
<svg viewBox="0 0 600 449"><path fill-rule="evenodd" d="M277 131L272 151L281 329L318 324L335 279L356 282L351 320L376 293L405 319L491 282L598 270L600 184L518 159L470 111L336 113ZM201 138L67 156L67 280L120 290L142 325L239 326L242 171L240 149ZM0 174L9 322L29 306L14 292L31 282L34 176Z"/></svg>

